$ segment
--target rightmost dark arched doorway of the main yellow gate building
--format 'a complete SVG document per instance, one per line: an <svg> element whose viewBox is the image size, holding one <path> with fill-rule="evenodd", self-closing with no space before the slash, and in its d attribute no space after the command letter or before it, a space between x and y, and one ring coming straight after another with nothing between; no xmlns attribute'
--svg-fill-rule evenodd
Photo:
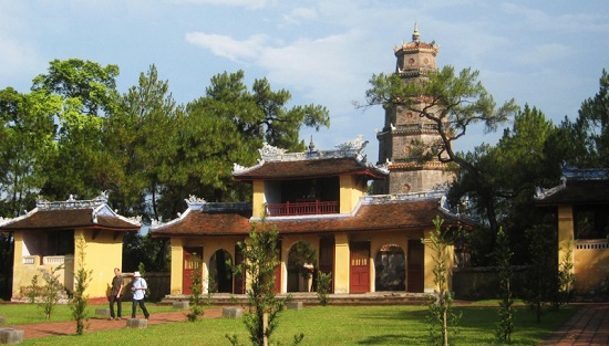
<svg viewBox="0 0 609 346"><path fill-rule="evenodd" d="M406 291L406 259L396 244L384 244L374 256L376 292Z"/></svg>

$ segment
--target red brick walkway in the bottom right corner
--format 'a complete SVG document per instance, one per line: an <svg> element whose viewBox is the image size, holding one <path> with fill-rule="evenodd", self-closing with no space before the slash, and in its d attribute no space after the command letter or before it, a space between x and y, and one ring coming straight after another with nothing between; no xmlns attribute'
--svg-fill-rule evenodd
<svg viewBox="0 0 609 346"><path fill-rule="evenodd" d="M589 303L540 345L609 345L609 304Z"/></svg>

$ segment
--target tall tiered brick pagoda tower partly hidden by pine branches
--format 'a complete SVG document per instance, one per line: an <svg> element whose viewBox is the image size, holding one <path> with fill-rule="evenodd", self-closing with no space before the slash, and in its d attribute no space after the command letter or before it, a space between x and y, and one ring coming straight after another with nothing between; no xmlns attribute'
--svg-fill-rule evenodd
<svg viewBox="0 0 609 346"><path fill-rule="evenodd" d="M398 63L395 73L404 83L420 83L426 73L437 71L435 57L440 46L435 42L421 42L416 24L412 42L394 48ZM423 108L421 103L420 107ZM419 108L419 106L415 106ZM454 174L446 171L446 165L433 158L420 162L412 153L421 147L440 140L433 122L403 106L385 104L385 124L376 133L379 139L379 164L388 162L389 179L375 181L375 195L395 195L443 190Z"/></svg>

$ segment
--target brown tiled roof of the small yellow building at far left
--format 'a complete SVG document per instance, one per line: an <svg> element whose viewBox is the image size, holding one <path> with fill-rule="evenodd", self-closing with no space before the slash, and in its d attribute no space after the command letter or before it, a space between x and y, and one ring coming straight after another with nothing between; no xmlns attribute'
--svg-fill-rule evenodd
<svg viewBox="0 0 609 346"><path fill-rule="evenodd" d="M35 229L76 229L96 228L114 231L137 231L140 224L134 224L124 218L115 216L96 216L93 209L38 210L24 217L13 219L0 226L1 231L19 231Z"/></svg>

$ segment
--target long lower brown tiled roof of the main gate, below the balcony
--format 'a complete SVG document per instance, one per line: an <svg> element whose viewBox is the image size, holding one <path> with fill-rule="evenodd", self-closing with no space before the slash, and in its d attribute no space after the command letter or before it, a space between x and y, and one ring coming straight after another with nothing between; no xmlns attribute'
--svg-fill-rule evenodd
<svg viewBox="0 0 609 346"><path fill-rule="evenodd" d="M363 203L354 216L307 216L268 218L268 226L277 226L279 233L330 233L357 231L420 230L432 227L440 216L445 226L462 220L442 211L438 199L425 201L391 201ZM465 223L464 223L465 224ZM467 224L465 224L467 227ZM153 237L180 235L246 235L251 224L247 214L208 213L189 210L182 220L168 227L151 229Z"/></svg>

